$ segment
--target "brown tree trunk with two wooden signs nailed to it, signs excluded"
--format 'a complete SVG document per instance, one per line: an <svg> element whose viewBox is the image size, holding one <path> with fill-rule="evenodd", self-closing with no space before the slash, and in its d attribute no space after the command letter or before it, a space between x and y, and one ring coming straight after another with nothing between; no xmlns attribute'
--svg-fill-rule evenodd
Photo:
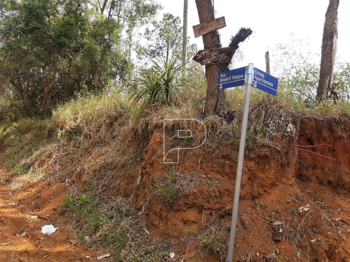
<svg viewBox="0 0 350 262"><path fill-rule="evenodd" d="M196 0L199 22L203 23L215 19L214 8L211 0ZM220 36L217 31L212 31L202 36L204 49L220 48ZM225 110L224 90L216 90L219 65L205 66L205 77L207 78L207 99L205 100L204 113L206 115L220 114Z"/></svg>

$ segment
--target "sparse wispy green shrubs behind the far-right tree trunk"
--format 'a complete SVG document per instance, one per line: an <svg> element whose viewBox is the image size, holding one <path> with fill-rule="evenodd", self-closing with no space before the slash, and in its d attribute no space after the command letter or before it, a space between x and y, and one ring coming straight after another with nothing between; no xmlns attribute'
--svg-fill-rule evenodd
<svg viewBox="0 0 350 262"><path fill-rule="evenodd" d="M274 71L279 75L279 93L287 90L296 102L316 104L316 90L320 75L320 56L311 53L308 43L294 39L288 44L276 45ZM341 100L350 102L350 65L336 59L333 82L340 92Z"/></svg>

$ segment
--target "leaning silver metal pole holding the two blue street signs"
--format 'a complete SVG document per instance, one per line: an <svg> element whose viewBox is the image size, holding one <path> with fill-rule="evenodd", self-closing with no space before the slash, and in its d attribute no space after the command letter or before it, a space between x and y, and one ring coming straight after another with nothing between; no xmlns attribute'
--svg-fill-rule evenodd
<svg viewBox="0 0 350 262"><path fill-rule="evenodd" d="M236 185L235 185L235 198L233 199L233 209L232 209L232 218L231 218L231 230L230 230L230 239L229 239L229 249L228 249L228 254L227 254L227 261L228 262L232 262L233 247L235 245L239 191L240 191L240 183L241 183L241 178L242 178L245 135L246 135L246 132L247 132L248 111L249 111L250 91L251 91L251 88L252 88L253 70L254 70L254 65L253 64L249 64L248 65L248 71L247 71L247 82L246 82L245 99L244 99L244 109L243 109L243 121L242 121L242 128L241 128L241 137L240 137L240 142L239 142L237 175L236 175Z"/></svg>

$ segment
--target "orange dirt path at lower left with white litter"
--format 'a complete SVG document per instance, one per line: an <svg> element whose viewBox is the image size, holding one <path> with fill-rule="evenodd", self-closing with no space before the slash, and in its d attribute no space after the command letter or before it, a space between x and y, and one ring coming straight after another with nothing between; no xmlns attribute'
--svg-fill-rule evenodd
<svg viewBox="0 0 350 262"><path fill-rule="evenodd" d="M69 217L57 214L67 192L64 185L44 180L28 183L20 192L9 194L9 191L0 182L1 262L97 261L96 252L73 241L73 233L67 228ZM57 231L51 235L41 233L41 227L48 224L58 228Z"/></svg>

